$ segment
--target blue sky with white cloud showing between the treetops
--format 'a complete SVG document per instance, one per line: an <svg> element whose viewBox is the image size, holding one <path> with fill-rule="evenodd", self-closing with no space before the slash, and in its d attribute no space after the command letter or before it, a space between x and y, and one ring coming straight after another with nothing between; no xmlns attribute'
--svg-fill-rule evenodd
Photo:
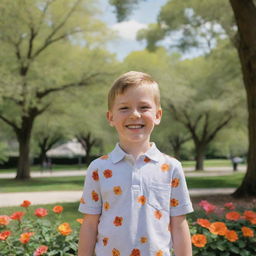
<svg viewBox="0 0 256 256"><path fill-rule="evenodd" d="M137 41L136 33L148 24L156 22L160 8L166 2L167 0L141 1L127 20L118 23L114 8L108 4L108 0L100 0L103 11L101 19L119 35L118 39L108 44L108 50L115 53L119 60L123 60L132 51L143 50L146 42Z"/></svg>

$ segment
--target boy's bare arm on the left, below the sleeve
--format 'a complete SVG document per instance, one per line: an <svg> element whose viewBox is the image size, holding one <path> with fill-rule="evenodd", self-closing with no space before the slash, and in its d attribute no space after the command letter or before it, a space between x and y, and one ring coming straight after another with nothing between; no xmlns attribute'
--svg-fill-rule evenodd
<svg viewBox="0 0 256 256"><path fill-rule="evenodd" d="M78 256L93 256L100 214L85 214L80 229Z"/></svg>

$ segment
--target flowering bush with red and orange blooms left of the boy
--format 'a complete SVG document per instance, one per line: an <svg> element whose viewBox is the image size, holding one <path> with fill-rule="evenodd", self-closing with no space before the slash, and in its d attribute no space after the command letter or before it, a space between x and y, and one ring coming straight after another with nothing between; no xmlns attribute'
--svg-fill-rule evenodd
<svg viewBox="0 0 256 256"><path fill-rule="evenodd" d="M62 206L55 206L51 212L44 208L32 211L29 206L30 202L25 200L21 204L23 211L0 216L1 255L77 255L82 219L71 227L62 220Z"/></svg>

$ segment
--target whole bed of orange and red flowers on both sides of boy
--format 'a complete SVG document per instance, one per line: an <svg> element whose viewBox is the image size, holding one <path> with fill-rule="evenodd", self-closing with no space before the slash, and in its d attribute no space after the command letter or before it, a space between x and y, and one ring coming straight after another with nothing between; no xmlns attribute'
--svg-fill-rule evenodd
<svg viewBox="0 0 256 256"><path fill-rule="evenodd" d="M194 256L256 255L255 211L236 209L233 203L217 207L206 200L199 205L202 210L189 216ZM59 205L50 211L32 210L25 200L21 207L10 216L0 216L1 255L77 255L82 219L71 226L63 221Z"/></svg>

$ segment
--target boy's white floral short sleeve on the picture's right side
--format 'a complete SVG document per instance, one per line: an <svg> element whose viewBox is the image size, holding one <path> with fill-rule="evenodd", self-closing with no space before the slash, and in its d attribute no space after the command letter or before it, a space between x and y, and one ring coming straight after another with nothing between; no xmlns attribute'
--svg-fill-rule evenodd
<svg viewBox="0 0 256 256"><path fill-rule="evenodd" d="M179 216L193 212L192 203L181 163L177 162L172 175L170 215Z"/></svg>

